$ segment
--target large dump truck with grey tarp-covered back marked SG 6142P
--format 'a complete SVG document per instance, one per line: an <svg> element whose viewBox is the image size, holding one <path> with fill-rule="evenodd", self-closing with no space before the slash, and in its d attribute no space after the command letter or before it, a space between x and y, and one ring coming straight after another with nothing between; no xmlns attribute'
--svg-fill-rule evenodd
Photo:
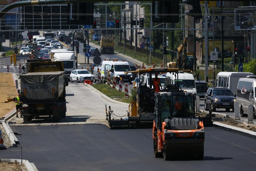
<svg viewBox="0 0 256 171"><path fill-rule="evenodd" d="M40 116L54 122L66 117L66 86L62 61L31 62L29 72L20 76L23 121Z"/></svg>

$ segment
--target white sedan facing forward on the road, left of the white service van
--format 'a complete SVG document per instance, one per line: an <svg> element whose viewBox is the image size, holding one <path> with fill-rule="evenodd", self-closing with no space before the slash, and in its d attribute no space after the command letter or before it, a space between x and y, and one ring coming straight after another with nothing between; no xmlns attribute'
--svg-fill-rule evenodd
<svg viewBox="0 0 256 171"><path fill-rule="evenodd" d="M93 75L88 70L73 70L70 74L70 82L73 81L84 81L91 80L93 81Z"/></svg>

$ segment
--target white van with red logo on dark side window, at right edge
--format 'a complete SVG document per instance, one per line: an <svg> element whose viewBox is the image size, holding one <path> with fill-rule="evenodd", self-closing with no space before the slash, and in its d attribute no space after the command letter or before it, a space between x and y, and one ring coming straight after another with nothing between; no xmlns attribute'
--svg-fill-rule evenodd
<svg viewBox="0 0 256 171"><path fill-rule="evenodd" d="M256 119L256 76L240 78L236 90L236 101L239 103L240 115L245 117L248 114L248 104L253 104L253 119ZM249 100L250 93L253 98Z"/></svg>

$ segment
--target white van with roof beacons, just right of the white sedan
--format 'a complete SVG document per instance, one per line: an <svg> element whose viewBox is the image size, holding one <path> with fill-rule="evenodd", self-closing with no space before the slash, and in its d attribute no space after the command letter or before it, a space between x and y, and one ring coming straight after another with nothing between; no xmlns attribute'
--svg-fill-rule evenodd
<svg viewBox="0 0 256 171"><path fill-rule="evenodd" d="M129 82L132 84L133 81L133 74L124 72L131 71L130 65L126 61L111 61L114 59L106 59L105 61L102 61L101 65L101 77L102 82L107 82L107 75L109 71L110 79L115 76L117 78L117 84L119 83L120 79L122 78L123 83Z"/></svg>

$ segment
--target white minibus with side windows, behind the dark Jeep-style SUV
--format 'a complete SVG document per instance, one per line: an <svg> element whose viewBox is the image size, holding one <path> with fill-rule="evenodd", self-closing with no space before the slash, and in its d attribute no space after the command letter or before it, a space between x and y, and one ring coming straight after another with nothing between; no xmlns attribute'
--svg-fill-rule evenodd
<svg viewBox="0 0 256 171"><path fill-rule="evenodd" d="M227 87L231 92L236 95L236 88L240 78L246 76L253 76L253 73L242 72L219 72L216 76L216 87Z"/></svg>

